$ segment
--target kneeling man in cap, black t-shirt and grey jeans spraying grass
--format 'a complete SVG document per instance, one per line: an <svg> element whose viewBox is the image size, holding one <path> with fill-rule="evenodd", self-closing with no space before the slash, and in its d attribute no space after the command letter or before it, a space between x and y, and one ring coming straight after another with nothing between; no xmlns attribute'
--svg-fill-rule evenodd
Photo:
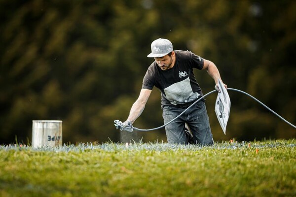
<svg viewBox="0 0 296 197"><path fill-rule="evenodd" d="M194 101L202 97L203 94L194 77L193 68L207 70L216 83L215 88L219 91L218 79L221 80L221 77L215 64L190 51L173 51L173 45L168 39L154 40L151 43L151 53L147 57L154 58L155 61L148 67L140 96L124 122L124 125L128 127L131 127L143 112L154 86L161 91L164 124L177 117ZM227 88L225 84L224 86ZM205 99L197 102L176 121L165 127L169 143L188 143L185 124L189 127L196 144L214 144Z"/></svg>

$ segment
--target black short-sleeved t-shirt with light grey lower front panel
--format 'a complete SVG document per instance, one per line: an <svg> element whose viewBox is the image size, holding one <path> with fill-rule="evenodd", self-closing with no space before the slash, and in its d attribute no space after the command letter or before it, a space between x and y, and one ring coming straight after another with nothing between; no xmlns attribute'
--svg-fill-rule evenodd
<svg viewBox="0 0 296 197"><path fill-rule="evenodd" d="M203 96L194 77L193 68L202 69L204 60L190 51L174 51L174 67L161 70L154 61L143 79L142 89L152 90L155 86L161 92L161 105L185 105Z"/></svg>

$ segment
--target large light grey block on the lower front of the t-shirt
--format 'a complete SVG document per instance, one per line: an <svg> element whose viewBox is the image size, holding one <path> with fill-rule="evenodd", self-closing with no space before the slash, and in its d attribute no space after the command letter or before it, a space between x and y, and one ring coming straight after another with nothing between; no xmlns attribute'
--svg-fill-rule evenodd
<svg viewBox="0 0 296 197"><path fill-rule="evenodd" d="M183 81L174 83L163 90L165 93L165 98L174 105L191 102L197 99L200 95L197 92L193 93L189 77Z"/></svg>

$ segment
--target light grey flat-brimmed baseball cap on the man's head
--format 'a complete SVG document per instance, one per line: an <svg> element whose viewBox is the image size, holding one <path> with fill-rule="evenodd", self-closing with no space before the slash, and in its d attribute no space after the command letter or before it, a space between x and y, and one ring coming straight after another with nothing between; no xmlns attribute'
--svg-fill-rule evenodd
<svg viewBox="0 0 296 197"><path fill-rule="evenodd" d="M173 51L173 44L168 39L158 38L151 43L151 53L148 58L159 58Z"/></svg>

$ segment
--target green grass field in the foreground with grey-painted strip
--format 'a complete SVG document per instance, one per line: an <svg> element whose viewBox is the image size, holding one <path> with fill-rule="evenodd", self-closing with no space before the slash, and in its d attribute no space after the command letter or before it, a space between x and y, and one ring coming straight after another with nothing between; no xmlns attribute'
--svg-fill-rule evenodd
<svg viewBox="0 0 296 197"><path fill-rule="evenodd" d="M292 197L296 141L0 146L0 196Z"/></svg>

